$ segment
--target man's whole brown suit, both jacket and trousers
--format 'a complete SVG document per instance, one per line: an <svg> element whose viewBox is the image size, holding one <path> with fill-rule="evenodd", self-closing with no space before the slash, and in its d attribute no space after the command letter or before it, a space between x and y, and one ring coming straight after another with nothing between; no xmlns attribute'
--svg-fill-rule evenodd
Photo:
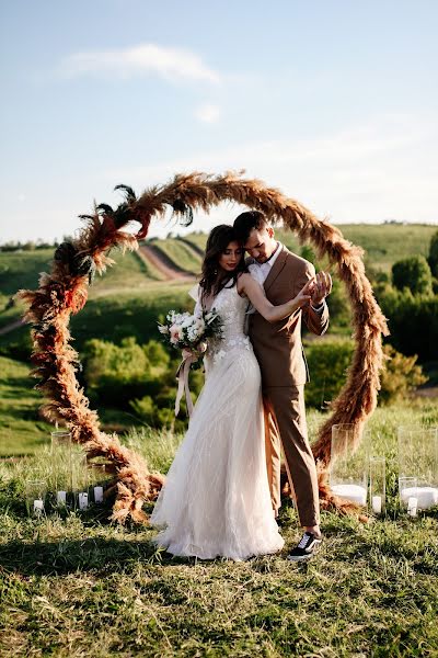
<svg viewBox="0 0 438 658"><path fill-rule="evenodd" d="M285 247L265 283L266 297L274 305L293 298L314 275L314 268ZM300 523L319 523L316 467L308 440L304 384L308 368L301 343L301 320L309 330L322 334L328 326L328 310L322 313L310 305L289 318L269 324L260 314L250 320L250 338L262 372L266 430L266 466L275 511L280 507L280 455L295 491Z"/></svg>

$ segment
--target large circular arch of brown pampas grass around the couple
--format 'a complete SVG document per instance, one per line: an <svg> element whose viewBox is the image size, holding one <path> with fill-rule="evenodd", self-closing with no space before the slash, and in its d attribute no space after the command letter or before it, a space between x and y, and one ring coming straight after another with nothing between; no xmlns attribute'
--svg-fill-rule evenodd
<svg viewBox="0 0 438 658"><path fill-rule="evenodd" d="M69 428L73 441L83 445L88 458L102 456L112 464L116 500L111 519L124 522L130 517L135 522L147 521L142 504L157 497L164 478L150 473L145 460L122 445L116 434L106 434L100 429L97 412L89 408L76 377L79 361L70 345L70 316L85 305L94 272L102 273L112 264L107 254L112 247L136 249L138 240L147 236L151 219L162 218L169 207L181 223L188 225L194 211L208 213L223 201L261 211L273 224L283 220L301 242L311 242L320 258L328 258L346 286L353 311L355 351L345 386L331 405L331 416L319 431L313 453L323 504L343 511L351 509L354 506L334 497L326 484L332 427L354 423L357 429L354 441L359 442L362 423L377 404L383 360L381 337L388 334L385 318L365 274L362 250L296 200L260 180L244 179L237 173L177 174L168 184L147 189L139 197L127 185L117 185L117 189L124 192L125 201L115 209L101 204L92 215L81 215L84 227L76 239L57 248L51 271L41 275L39 287L19 292L27 306L24 319L33 326L33 375L39 378L36 388L47 399L43 413L48 420ZM123 230L132 220L141 225L136 235Z"/></svg>

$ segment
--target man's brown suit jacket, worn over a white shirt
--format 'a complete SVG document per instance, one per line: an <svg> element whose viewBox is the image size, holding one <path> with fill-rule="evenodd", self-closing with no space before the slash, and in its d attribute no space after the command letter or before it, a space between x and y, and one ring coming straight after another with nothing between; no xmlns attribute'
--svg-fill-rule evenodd
<svg viewBox="0 0 438 658"><path fill-rule="evenodd" d="M251 264L251 261L250 261ZM266 297L275 306L292 299L314 276L313 265L281 246L264 283ZM268 322L258 313L250 318L249 333L262 372L263 388L299 386L309 381L301 342L301 320L321 336L328 327L328 308L316 313L310 304L278 322Z"/></svg>

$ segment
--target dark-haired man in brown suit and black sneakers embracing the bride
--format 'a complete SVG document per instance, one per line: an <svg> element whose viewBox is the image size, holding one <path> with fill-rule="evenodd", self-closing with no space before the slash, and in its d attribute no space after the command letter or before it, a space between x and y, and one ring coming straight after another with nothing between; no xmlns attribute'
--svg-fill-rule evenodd
<svg viewBox="0 0 438 658"><path fill-rule="evenodd" d="M321 336L328 327L325 297L332 290L328 274L291 253L277 242L274 229L258 211L242 213L234 220L238 239L250 254L249 270L265 288L272 304L295 297L314 277L310 303L292 316L269 324L260 314L250 316L249 333L262 372L266 423L266 464L275 514L280 507L280 446L285 453L289 484L295 490L304 534L288 558L308 559L321 544L316 467L306 424L304 384L309 379L301 343L301 319Z"/></svg>

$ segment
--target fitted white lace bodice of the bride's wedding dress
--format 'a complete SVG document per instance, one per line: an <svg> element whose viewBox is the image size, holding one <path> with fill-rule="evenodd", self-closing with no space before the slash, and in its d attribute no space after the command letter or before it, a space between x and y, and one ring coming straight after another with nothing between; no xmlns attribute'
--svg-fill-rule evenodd
<svg viewBox="0 0 438 658"><path fill-rule="evenodd" d="M238 286L224 287L218 293L211 308L217 310L222 322L222 338L210 340L207 356L216 365L230 350L251 350L249 337L244 332L247 298L241 297ZM198 308L200 306L197 305Z"/></svg>

